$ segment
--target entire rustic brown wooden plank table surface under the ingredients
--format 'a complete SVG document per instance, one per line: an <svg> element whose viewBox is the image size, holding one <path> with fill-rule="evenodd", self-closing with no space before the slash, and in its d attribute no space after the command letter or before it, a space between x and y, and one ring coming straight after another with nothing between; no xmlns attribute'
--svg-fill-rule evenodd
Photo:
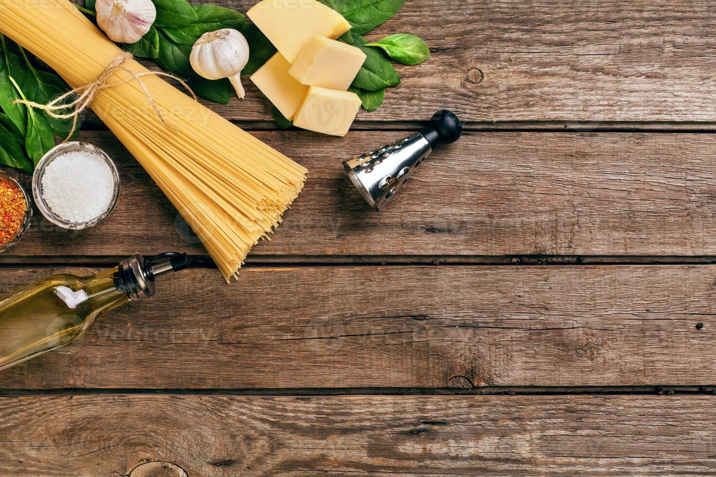
<svg viewBox="0 0 716 477"><path fill-rule="evenodd" d="M277 130L253 85L213 105L308 167L304 192L238 282L188 270L0 373L0 475L714 475L714 18L410 0L369 38L432 58L347 137ZM463 139L369 210L342 160L445 107ZM117 159L117 209L79 233L36 211L0 292L205 254L105 127L81 138Z"/></svg>

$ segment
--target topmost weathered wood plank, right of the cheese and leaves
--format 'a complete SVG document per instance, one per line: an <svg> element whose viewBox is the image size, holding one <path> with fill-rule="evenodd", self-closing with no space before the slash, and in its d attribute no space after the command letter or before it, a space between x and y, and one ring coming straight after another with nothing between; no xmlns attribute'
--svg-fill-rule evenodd
<svg viewBox="0 0 716 477"><path fill-rule="evenodd" d="M204 1L194 1L203 4ZM216 2L247 11L254 0ZM412 33L432 58L396 65L402 84L359 120L407 121L453 109L465 121L714 121L712 1L411 0L371 40ZM213 109L271 120L247 99Z"/></svg>

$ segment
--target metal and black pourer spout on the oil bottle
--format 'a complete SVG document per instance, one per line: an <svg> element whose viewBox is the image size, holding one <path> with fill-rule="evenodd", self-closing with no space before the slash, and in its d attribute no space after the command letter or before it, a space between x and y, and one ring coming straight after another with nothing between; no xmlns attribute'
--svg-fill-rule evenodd
<svg viewBox="0 0 716 477"><path fill-rule="evenodd" d="M155 278L169 272L178 272L190 267L189 257L185 253L168 252L145 259L142 255L132 255L120 263L115 274L118 290L124 290L130 300L142 300L157 292Z"/></svg>

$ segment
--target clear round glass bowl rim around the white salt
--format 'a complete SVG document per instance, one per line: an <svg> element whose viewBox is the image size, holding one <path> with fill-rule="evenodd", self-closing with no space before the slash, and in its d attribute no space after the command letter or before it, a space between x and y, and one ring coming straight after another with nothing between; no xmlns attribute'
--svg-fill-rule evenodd
<svg viewBox="0 0 716 477"><path fill-rule="evenodd" d="M105 162L107 162L107 165L110 166L112 177L114 179L115 190L112 193L112 199L110 199L109 207L107 207L105 212L102 212L102 215L95 217L88 222L70 222L69 220L64 220L62 217L59 217L59 215L52 212L52 209L49 205L47 205L44 197L42 197L42 176L44 175L47 166L49 166L54 159L57 159L57 157L67 154L68 152L76 151L91 152L92 154L104 159ZM110 213L112 213L112 210L115 210L117 199L120 197L120 174L117 172L117 166L115 166L115 163L112 162L112 159L110 159L107 153L102 151L99 147L87 144L87 142L65 142L64 144L59 144L59 146L50 149L47 154L40 159L40 162L37 163L35 172L32 174L32 196L35 199L37 208L40 212L42 212L42 215L44 215L45 218L47 218L47 220L52 222L54 225L64 229L82 230L99 224L102 220L105 220Z"/></svg>

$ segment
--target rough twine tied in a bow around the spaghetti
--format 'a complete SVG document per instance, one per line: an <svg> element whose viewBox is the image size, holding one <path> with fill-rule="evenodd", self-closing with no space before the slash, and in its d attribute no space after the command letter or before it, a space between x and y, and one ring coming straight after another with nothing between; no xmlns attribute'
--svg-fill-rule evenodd
<svg viewBox="0 0 716 477"><path fill-rule="evenodd" d="M152 98L152 95L149 92L149 89L147 89L147 85L144 84L142 81L142 77L147 75L153 75L158 77L168 77L171 79L174 79L176 82L179 82L183 87L187 89L188 92L191 93L191 95L194 97L195 101L198 101L196 94L192 91L192 89L189 87L186 82L183 81L183 79L180 79L178 77L175 77L173 74L168 74L165 72L145 72L137 74L135 72L132 72L132 70L126 68L124 64L132 59L134 56L132 56L131 53L127 51L123 51L120 56L117 56L115 60L110 63L102 73L95 78L94 81L91 83L81 86L79 88L72 89L72 91L69 91L65 94L62 94L62 96L57 97L56 99L52 100L51 102L47 104L39 104L32 101L26 101L24 99L18 99L14 102L14 104L26 104L29 107L34 107L37 109L42 109L44 112L47 113L49 117L53 117L54 119L69 119L72 118L72 130L69 132L67 137L64 139L63 142L69 141L69 138L72 137L72 134L77 130L77 118L79 117L79 114L82 114L82 112L89 107L92 102L95 101L95 98L97 97L97 94L100 94L100 91L102 89L107 88L114 88L121 86L122 84L129 83L132 81L136 81L139 83L140 87L142 87L142 91L144 94L147 95L147 99L149 100L149 103L152 105L154 112L157 114L159 119L161 119L162 123L171 129L174 129L170 124L166 122L164 119L162 112L159 110L158 105ZM109 83L110 77L112 77L112 74L115 74L117 70L122 70L130 74L131 78L125 79L121 82L117 83ZM77 95L77 98L74 99L71 103L64 103L64 100L71 97L73 94ZM69 110L69 112L66 112ZM64 112L64 113L63 113Z"/></svg>

